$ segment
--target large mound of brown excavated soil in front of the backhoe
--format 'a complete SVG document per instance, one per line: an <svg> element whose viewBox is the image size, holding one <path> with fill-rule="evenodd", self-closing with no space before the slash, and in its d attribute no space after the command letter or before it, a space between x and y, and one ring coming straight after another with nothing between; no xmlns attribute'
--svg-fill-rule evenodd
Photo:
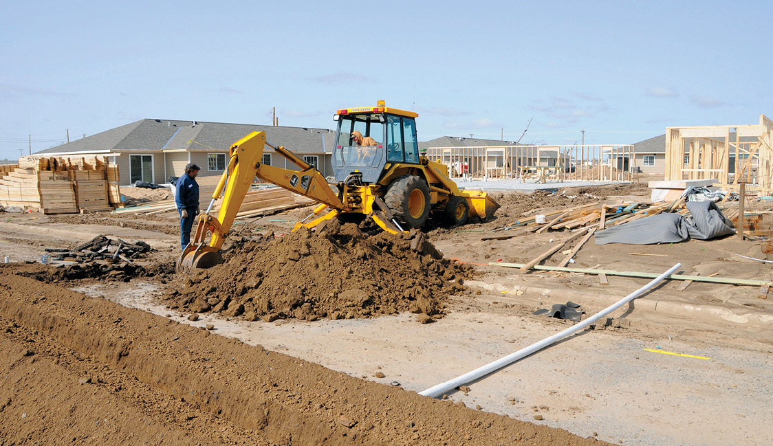
<svg viewBox="0 0 773 446"><path fill-rule="evenodd" d="M263 318L369 318L410 311L443 314L472 268L442 258L422 233L367 235L326 222L235 248L230 259L177 280L162 296L172 308Z"/></svg>

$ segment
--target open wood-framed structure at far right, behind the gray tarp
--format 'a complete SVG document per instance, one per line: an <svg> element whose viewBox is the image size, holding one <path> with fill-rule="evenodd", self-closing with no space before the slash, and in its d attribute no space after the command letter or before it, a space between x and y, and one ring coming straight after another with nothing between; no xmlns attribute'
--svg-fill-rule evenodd
<svg viewBox="0 0 773 446"><path fill-rule="evenodd" d="M740 184L773 192L773 121L759 124L666 128L666 180L716 179L730 191Z"/></svg>

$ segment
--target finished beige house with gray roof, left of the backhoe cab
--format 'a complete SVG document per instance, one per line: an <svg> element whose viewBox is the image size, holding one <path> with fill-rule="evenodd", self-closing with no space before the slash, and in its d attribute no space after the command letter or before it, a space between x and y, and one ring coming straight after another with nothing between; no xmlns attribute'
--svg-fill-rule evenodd
<svg viewBox="0 0 773 446"><path fill-rule="evenodd" d="M317 166L322 175L333 175L335 131L322 128L142 119L33 155L107 156L118 166L121 185L138 180L160 184L182 175L189 162L201 167L200 176L223 175L230 146L253 131L266 132L271 145L282 145ZM263 162L298 169L268 146Z"/></svg>

